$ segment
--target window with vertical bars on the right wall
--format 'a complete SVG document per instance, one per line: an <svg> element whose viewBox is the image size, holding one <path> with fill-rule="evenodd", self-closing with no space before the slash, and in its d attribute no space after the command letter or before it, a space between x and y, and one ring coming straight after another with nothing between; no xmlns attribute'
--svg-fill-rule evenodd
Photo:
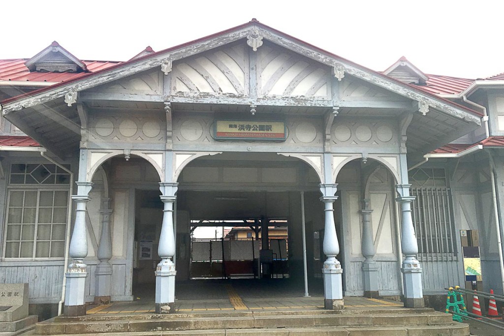
<svg viewBox="0 0 504 336"><path fill-rule="evenodd" d="M421 168L410 172L412 218L419 257L436 254L439 260L456 255L452 190L444 169Z"/></svg>

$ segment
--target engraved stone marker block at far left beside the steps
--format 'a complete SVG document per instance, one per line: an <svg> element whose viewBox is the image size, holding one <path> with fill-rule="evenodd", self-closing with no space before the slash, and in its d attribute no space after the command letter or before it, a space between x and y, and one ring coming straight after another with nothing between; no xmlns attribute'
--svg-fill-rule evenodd
<svg viewBox="0 0 504 336"><path fill-rule="evenodd" d="M28 316L28 284L0 284L0 322Z"/></svg>

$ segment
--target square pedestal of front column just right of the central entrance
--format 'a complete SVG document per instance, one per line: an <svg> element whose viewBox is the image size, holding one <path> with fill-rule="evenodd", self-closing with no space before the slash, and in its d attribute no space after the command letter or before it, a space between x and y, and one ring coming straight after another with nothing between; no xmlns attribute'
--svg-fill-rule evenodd
<svg viewBox="0 0 504 336"><path fill-rule="evenodd" d="M322 268L324 276L324 307L326 309L343 309L343 270L341 264L327 260ZM336 307L334 308L336 304Z"/></svg>

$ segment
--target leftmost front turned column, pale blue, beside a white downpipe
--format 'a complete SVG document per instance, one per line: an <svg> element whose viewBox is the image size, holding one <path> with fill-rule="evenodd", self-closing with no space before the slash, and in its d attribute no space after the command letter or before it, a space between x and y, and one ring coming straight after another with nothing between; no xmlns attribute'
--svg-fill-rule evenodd
<svg viewBox="0 0 504 336"><path fill-rule="evenodd" d="M65 292L65 315L86 315L84 288L86 283L86 267L84 258L88 255L88 238L86 231L86 204L89 192L93 187L91 182L76 182L77 195L72 195L76 203L75 225L70 240L69 255L72 263L67 268L67 290Z"/></svg>

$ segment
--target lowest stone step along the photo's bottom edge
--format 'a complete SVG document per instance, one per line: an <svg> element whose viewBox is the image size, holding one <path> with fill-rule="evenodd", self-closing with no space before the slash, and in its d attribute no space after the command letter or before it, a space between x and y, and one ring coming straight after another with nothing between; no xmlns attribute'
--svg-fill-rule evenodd
<svg viewBox="0 0 504 336"><path fill-rule="evenodd" d="M53 334L65 335L61 334ZM84 336L89 333L74 334ZM168 330L111 332L106 336L146 336L146 335L209 335L209 336L468 336L467 324L454 322L443 326L373 326L373 327L305 327L305 328L239 328L204 330Z"/></svg>

